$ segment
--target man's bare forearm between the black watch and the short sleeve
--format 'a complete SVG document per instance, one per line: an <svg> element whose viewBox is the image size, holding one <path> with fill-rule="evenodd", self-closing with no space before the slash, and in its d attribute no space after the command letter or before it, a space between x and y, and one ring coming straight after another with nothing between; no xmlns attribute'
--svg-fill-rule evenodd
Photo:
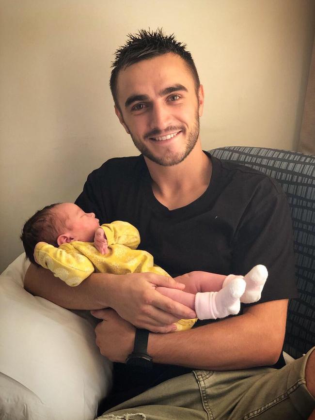
<svg viewBox="0 0 315 420"><path fill-rule="evenodd" d="M283 347L287 304L287 299L257 304L242 315L183 331L182 338L181 333L150 334L148 352L158 363L197 369L272 365Z"/></svg>

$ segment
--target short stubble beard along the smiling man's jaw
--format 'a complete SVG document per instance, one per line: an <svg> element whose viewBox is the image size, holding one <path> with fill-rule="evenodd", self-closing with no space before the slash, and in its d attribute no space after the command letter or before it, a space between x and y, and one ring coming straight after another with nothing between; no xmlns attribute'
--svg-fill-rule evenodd
<svg viewBox="0 0 315 420"><path fill-rule="evenodd" d="M186 157L189 155L189 153L192 151L192 149L195 147L195 144L197 143L198 137L199 137L199 115L198 112L196 114L195 123L189 132L187 141L186 141L186 147L183 150L183 152L179 152L177 154L174 154L171 150L166 149L166 153L164 156L155 156L154 153L152 153L145 144L143 144L140 140L136 139L131 131L130 136L134 143L134 145L137 147L139 152L142 153L143 156L147 157L148 159L152 160L152 162L157 163L161 166L174 166L181 163ZM158 140L153 140L158 141ZM162 140L163 141L163 140Z"/></svg>

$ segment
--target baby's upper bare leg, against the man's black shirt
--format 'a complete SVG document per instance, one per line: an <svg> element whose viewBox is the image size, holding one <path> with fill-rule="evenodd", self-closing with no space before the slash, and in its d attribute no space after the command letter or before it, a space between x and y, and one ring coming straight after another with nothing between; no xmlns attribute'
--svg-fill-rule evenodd
<svg viewBox="0 0 315 420"><path fill-rule="evenodd" d="M178 276L176 281L186 284L185 292L218 292L222 288L226 276L222 274L207 273L206 271L191 271Z"/></svg>

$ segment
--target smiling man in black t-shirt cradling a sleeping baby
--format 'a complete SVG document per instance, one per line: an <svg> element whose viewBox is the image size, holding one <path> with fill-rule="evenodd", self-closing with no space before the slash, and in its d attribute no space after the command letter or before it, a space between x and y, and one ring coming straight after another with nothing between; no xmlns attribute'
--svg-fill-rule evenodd
<svg viewBox="0 0 315 420"><path fill-rule="evenodd" d="M242 274L255 264L265 264L269 277L262 299L240 315L158 334L194 316L155 291L180 287L174 280L93 274L68 290L30 267L25 287L33 294L67 308L114 310L93 312L104 319L96 327L101 353L118 362L102 418L307 418L314 407L314 352L294 367L261 367L279 362L288 298L296 296L284 194L258 172L202 151L203 87L190 53L173 36L130 35L116 53L110 87L116 115L142 155L111 159L93 171L76 203L102 223L137 226L141 249L173 277L192 270ZM146 351L155 364L145 375L125 365L134 326L151 331Z"/></svg>

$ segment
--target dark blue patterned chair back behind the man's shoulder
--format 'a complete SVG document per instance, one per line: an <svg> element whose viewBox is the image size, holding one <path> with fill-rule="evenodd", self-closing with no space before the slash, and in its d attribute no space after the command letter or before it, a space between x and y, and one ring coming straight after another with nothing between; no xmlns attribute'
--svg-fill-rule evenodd
<svg viewBox="0 0 315 420"><path fill-rule="evenodd" d="M289 303L284 351L299 358L315 345L315 156L241 146L210 153L266 173L286 193L293 220L299 298Z"/></svg>

